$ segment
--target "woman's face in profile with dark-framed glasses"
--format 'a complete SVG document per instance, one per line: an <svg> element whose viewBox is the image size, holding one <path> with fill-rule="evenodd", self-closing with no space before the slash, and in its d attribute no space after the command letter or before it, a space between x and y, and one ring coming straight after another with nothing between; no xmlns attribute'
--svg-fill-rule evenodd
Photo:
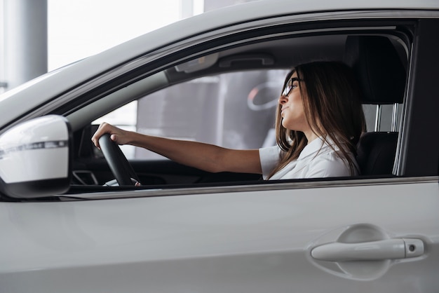
<svg viewBox="0 0 439 293"><path fill-rule="evenodd" d="M300 86L304 88L304 83L297 79L297 73L295 72L290 76L290 81L288 81L283 94L279 98L279 104L282 106L281 116L283 127L288 130L306 132L306 130L309 129L309 125L305 119L299 83L301 83Z"/></svg>

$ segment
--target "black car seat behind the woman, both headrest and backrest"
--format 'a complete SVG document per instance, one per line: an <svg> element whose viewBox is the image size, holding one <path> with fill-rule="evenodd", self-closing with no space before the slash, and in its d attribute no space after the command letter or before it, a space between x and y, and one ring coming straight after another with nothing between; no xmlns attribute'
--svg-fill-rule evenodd
<svg viewBox="0 0 439 293"><path fill-rule="evenodd" d="M406 72L400 56L385 36L349 36L344 62L353 68L363 92L363 104L402 103ZM366 132L358 142L362 175L391 175L398 132Z"/></svg>

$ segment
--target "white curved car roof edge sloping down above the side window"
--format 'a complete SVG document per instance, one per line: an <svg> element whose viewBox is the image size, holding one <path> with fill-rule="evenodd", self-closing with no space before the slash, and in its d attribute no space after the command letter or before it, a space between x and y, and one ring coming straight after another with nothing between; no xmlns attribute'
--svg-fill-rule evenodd
<svg viewBox="0 0 439 293"><path fill-rule="evenodd" d="M54 71L38 83L31 81L23 86L24 90L16 89L11 90L9 93L6 92L0 96L1 108L13 110L0 116L0 129L16 117L25 115L32 107L37 107L39 104L65 92L65 90L92 79L93 76L97 76L102 71L109 71L126 62L135 62L136 57L163 48L170 43L191 39L201 34L209 34L213 29L220 32L222 28L224 34L227 34L229 33L227 27L232 25L239 27L248 21L264 21L273 17L313 19L313 17L321 17L323 13L324 15L335 15L335 18L337 18L350 11L372 11L376 13L379 10L439 11L439 1L262 0L220 8L156 29L100 54L81 60L64 70ZM202 27L200 27L200 24L203 24ZM15 96L16 100L8 99L12 96ZM20 105L17 104L17 101Z"/></svg>

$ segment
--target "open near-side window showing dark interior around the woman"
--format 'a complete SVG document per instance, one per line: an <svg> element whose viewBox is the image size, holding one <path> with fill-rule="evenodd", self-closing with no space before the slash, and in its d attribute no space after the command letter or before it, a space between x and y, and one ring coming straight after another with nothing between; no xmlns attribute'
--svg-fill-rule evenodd
<svg viewBox="0 0 439 293"><path fill-rule="evenodd" d="M292 34L285 32L285 28L282 30L283 34ZM383 67L385 74L389 72L389 76L398 76L398 82L391 79L388 82L391 85L395 84L398 91L390 89L396 95L387 95L387 86L379 84L375 90L378 94L373 93L378 96L377 100L363 101L367 132L379 132L379 135L367 136L366 147L359 149L358 161L361 161L362 166L365 165L362 168L364 176L360 178L398 175L398 161L395 159L400 156L398 140L405 121L405 88L410 62L407 48L411 46L409 34L403 34L396 27L367 26L364 29L347 27L346 32L337 29L337 34L330 29L318 33L313 31L313 34L308 34L305 30L303 35L301 31L301 34L294 37L273 38L272 34L269 34L266 39L259 38L261 40L240 43L239 46L222 44L221 50L214 47L210 48L210 51L203 50L204 55L194 54L197 57L195 59L170 62L170 65L163 67L161 71L111 93L108 97L102 97L100 101L88 104L85 108L90 109L84 112L90 118L90 113L104 115L93 116L86 128L76 130L76 137L85 143L76 146L73 185L102 186L114 178L100 151L90 144L90 136L102 122L147 135L206 142L232 149L259 149L276 145L276 105L285 75L295 64L313 60L348 62L346 54L350 50L354 50L353 55L360 55L361 52L358 50L363 50L363 46L373 49L381 48L383 44L391 49L392 58L398 63L397 68L393 68L393 64ZM348 45L352 42L361 44L352 49ZM380 52L381 50L377 54L381 54ZM199 68L191 67L192 64L202 63L200 60L208 61ZM362 66L370 64L363 63L358 65L358 68L355 65L358 79L363 79L365 72L369 70ZM370 63L377 62L375 60ZM381 63L374 66L376 68L373 70L381 70ZM386 71L387 69L390 71ZM130 87L136 90L130 93ZM123 102L124 99L128 102ZM98 104L99 107L94 104ZM105 107L108 107L108 111ZM82 110L78 111L81 112ZM72 114L72 117L84 119L82 114ZM372 148L370 145L384 140L390 141L390 147L386 146L384 150L381 148L370 160L367 157ZM236 182L245 185L262 183L260 175L212 174L179 165L146 149L131 146L121 146L121 149L139 175L142 189L154 189L157 186L160 189L175 186L192 188L205 184L224 187L232 186ZM381 168L379 172L373 171L375 162L379 165L381 161L387 162L386 168ZM338 179L318 178L302 181L325 182Z"/></svg>

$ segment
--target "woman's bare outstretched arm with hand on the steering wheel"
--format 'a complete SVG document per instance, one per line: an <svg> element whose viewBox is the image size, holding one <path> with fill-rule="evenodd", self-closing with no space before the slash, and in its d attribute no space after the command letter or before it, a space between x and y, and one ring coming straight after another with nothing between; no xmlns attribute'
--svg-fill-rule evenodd
<svg viewBox="0 0 439 293"><path fill-rule="evenodd" d="M102 123L95 132L95 135L93 135L92 141L96 147L100 147L98 139L104 133L109 133L112 140L117 144L131 144L136 147L143 147L166 156L177 163L208 172L262 174L259 151L257 149L225 149L202 142L142 135L138 132L121 130L108 123Z"/></svg>

